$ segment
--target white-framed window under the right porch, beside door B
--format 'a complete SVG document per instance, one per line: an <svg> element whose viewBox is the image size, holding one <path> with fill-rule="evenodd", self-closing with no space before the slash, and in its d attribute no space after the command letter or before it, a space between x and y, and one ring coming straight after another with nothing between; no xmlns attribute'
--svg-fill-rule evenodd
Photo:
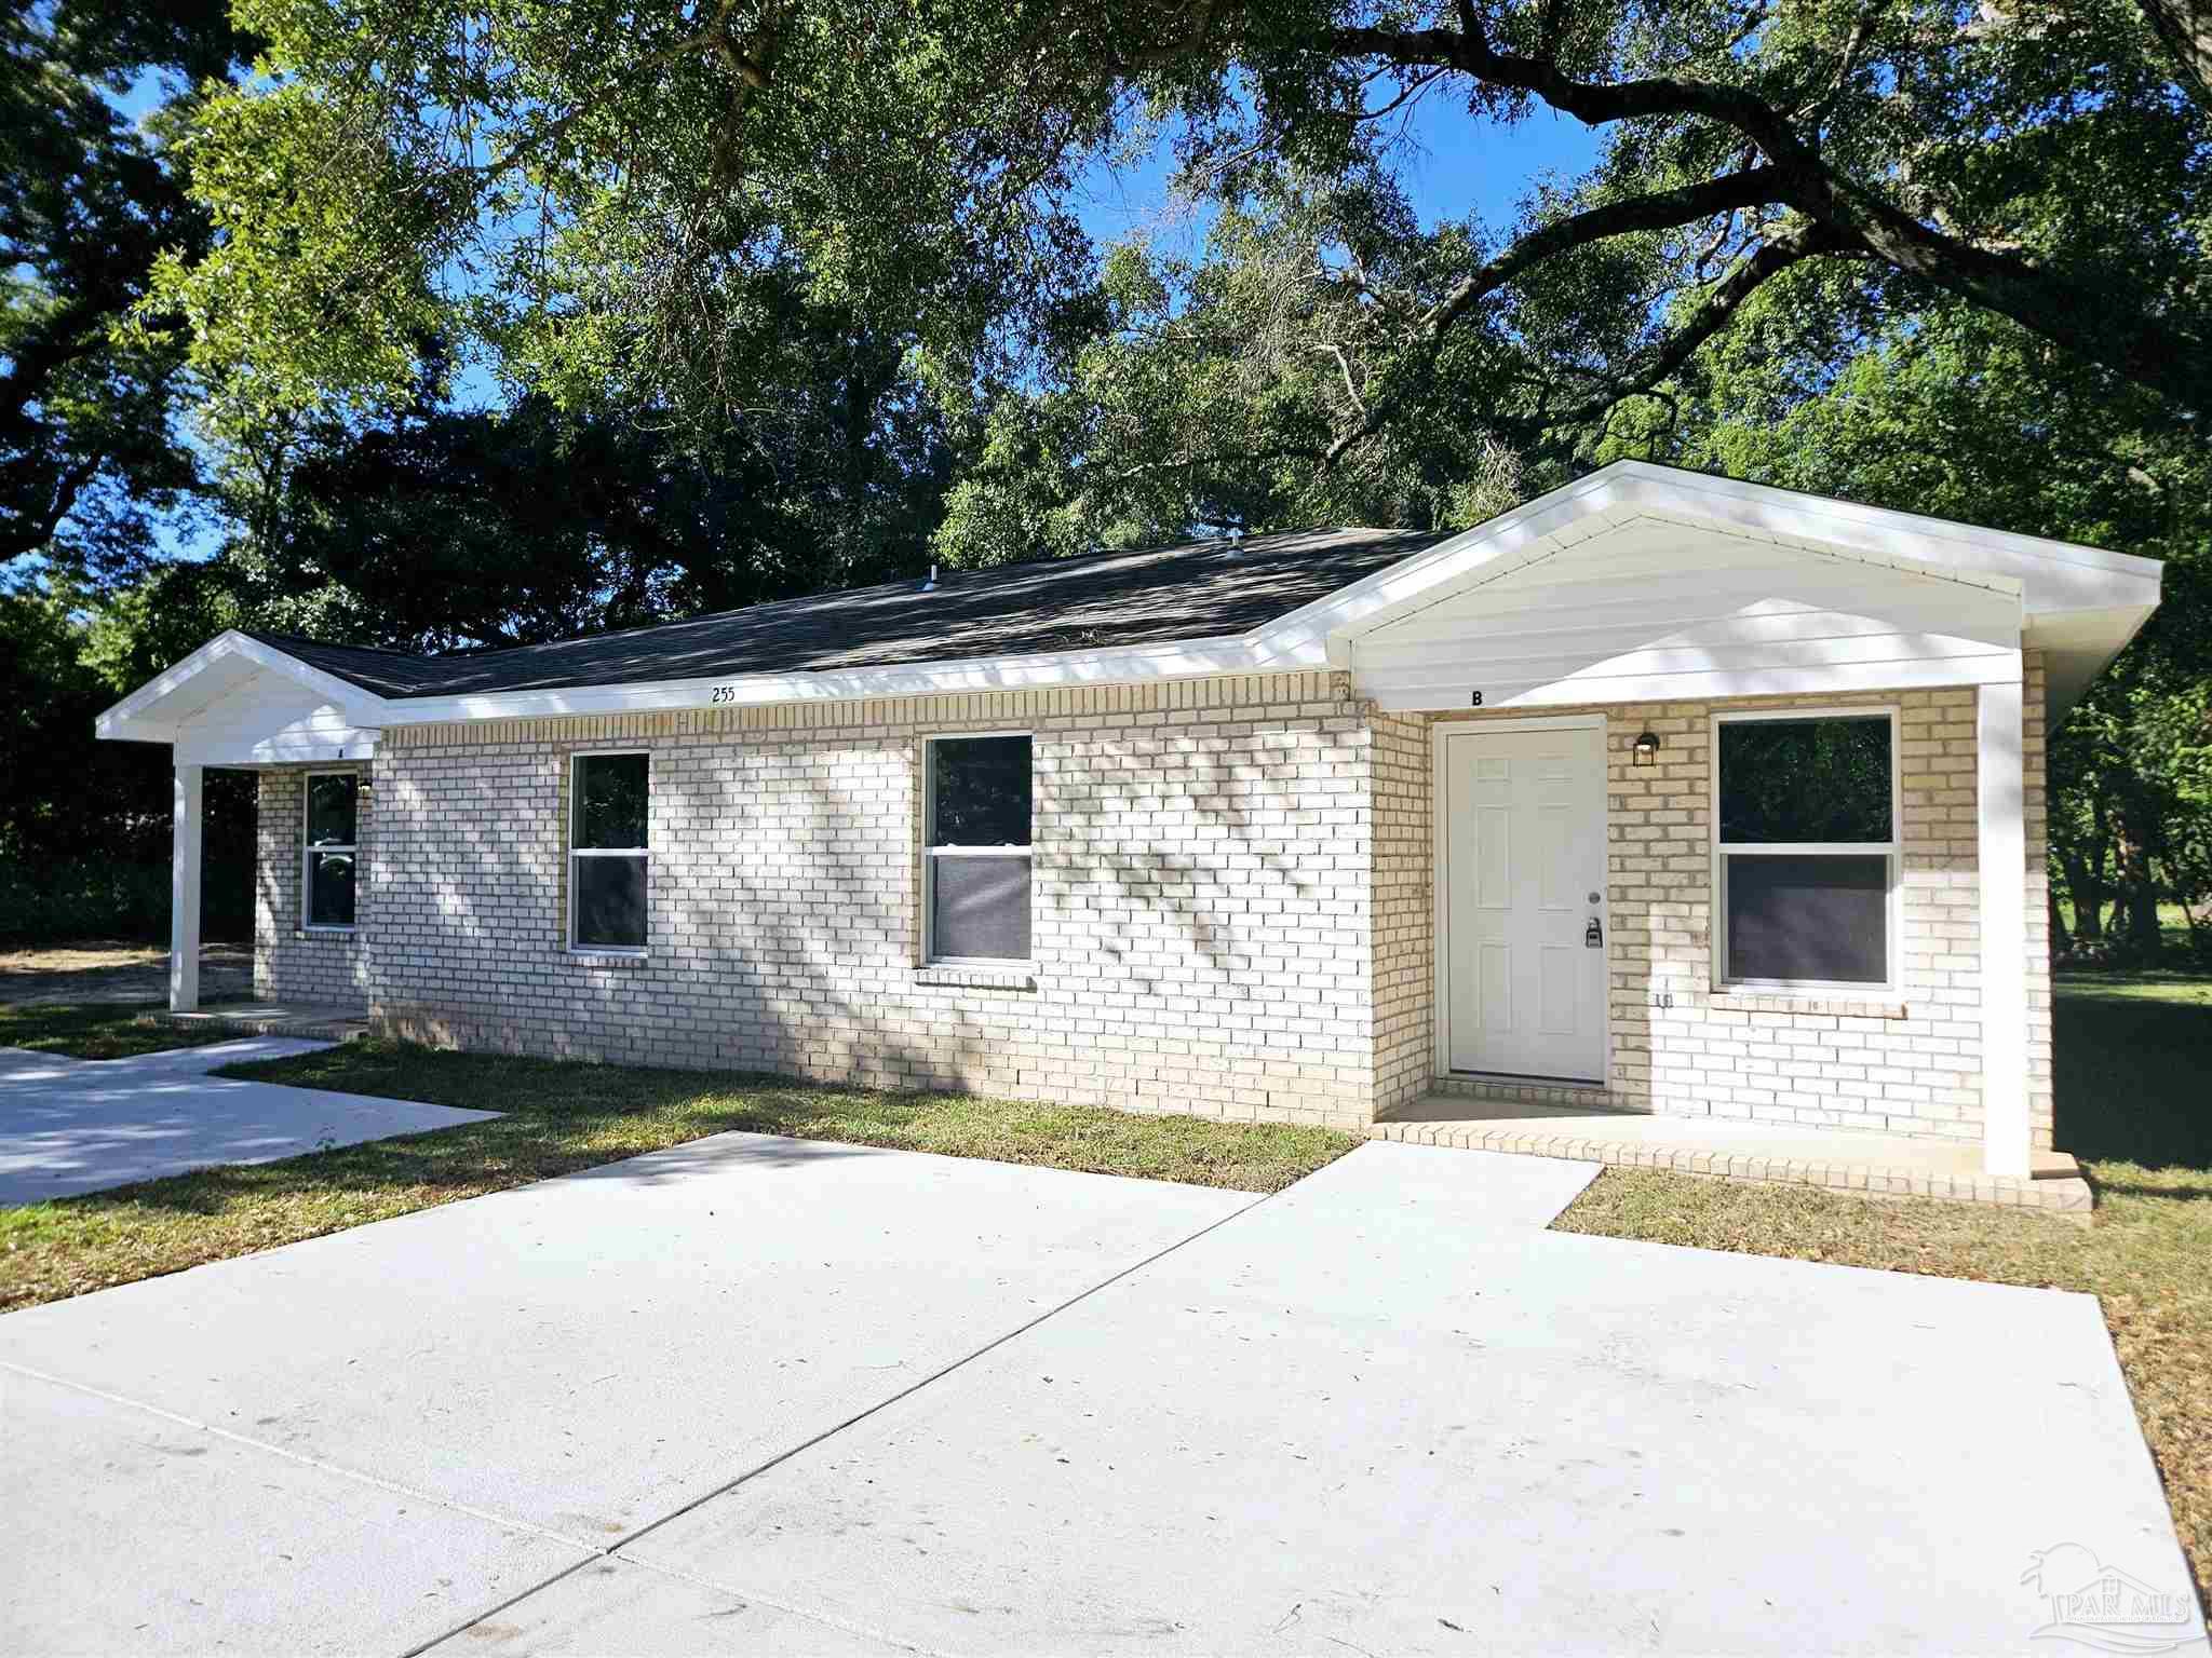
<svg viewBox="0 0 2212 1658"><path fill-rule="evenodd" d="M1893 738L1887 712L1717 721L1723 984L1893 984Z"/></svg>

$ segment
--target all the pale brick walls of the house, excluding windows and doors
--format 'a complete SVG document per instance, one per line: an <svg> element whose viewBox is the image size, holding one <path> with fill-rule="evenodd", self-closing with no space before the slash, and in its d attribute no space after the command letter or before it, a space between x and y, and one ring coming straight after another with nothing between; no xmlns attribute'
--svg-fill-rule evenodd
<svg viewBox="0 0 2212 1658"><path fill-rule="evenodd" d="M2031 663L2048 1145L2039 690ZM1887 1001L1710 984L1710 721L1792 701L1902 710ZM1978 1134L1973 692L1606 714L1619 1103ZM1666 747L1637 769L1646 725ZM296 935L299 774L263 774L257 988L352 990L389 1030L476 1048L1360 1127L1433 1081L1431 727L1334 674L405 727L363 805L358 944ZM925 968L922 738L1006 730L1035 738L1035 975ZM644 962L564 948L568 756L599 747L653 754Z"/></svg>

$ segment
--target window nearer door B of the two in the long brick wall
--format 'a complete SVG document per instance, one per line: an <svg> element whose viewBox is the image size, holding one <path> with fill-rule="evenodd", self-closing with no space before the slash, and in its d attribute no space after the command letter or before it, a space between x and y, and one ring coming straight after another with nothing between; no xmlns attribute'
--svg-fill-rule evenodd
<svg viewBox="0 0 2212 1658"><path fill-rule="evenodd" d="M927 769L929 959L1026 962L1029 738L940 736Z"/></svg>

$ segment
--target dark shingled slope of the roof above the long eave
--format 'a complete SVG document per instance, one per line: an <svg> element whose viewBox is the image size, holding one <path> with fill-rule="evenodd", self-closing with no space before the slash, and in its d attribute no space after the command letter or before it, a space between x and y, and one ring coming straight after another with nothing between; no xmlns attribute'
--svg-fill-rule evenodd
<svg viewBox="0 0 2212 1658"><path fill-rule="evenodd" d="M1243 634L1442 539L1400 531L1285 531L1252 535L1239 548L1186 542L1086 553L951 573L933 592L922 592L920 581L885 581L657 628L447 657L254 637L380 696L889 668Z"/></svg>

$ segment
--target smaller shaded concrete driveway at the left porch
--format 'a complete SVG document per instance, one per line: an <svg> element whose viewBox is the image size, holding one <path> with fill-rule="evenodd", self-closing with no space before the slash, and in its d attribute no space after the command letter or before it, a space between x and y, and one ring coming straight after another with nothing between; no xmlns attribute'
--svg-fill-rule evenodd
<svg viewBox="0 0 2212 1658"><path fill-rule="evenodd" d="M210 1163L274 1163L323 1145L498 1114L208 1074L217 1066L327 1046L246 1037L133 1059L0 1048L0 1205L66 1198Z"/></svg>

